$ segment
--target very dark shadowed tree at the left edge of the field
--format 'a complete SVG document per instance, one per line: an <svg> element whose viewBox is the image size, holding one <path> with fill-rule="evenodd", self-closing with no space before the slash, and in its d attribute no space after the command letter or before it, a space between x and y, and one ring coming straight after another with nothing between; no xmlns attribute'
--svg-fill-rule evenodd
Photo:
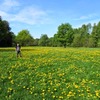
<svg viewBox="0 0 100 100"><path fill-rule="evenodd" d="M0 47L10 47L13 43L13 35L9 23L6 20L2 20L0 17Z"/></svg>

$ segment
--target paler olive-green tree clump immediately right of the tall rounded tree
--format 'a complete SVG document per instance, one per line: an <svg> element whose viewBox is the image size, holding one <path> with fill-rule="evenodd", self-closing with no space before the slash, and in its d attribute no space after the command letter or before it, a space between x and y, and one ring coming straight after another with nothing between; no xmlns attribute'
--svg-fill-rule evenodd
<svg viewBox="0 0 100 100"><path fill-rule="evenodd" d="M73 46L75 47L88 47L89 37L91 34L91 24L83 24L82 27L74 29Z"/></svg>

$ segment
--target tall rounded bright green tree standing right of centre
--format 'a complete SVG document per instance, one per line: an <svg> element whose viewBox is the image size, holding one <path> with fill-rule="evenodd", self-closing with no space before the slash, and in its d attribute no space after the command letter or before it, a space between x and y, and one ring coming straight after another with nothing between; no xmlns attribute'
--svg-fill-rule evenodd
<svg viewBox="0 0 100 100"><path fill-rule="evenodd" d="M72 26L69 23L61 24L58 26L57 38L62 46L71 46L73 42Z"/></svg>

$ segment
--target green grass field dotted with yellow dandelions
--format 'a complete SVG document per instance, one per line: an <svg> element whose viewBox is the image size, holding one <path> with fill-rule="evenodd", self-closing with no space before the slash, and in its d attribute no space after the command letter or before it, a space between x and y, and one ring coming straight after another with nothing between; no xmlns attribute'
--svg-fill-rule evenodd
<svg viewBox="0 0 100 100"><path fill-rule="evenodd" d="M0 49L0 100L100 100L100 48Z"/></svg>

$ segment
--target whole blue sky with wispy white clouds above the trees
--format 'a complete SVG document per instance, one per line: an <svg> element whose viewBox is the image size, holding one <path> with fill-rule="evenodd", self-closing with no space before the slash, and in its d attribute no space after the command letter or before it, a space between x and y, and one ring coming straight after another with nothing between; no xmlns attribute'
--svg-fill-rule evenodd
<svg viewBox="0 0 100 100"><path fill-rule="evenodd" d="M52 37L62 23L98 23L100 0L0 0L0 16L16 35L27 29L34 38Z"/></svg>

